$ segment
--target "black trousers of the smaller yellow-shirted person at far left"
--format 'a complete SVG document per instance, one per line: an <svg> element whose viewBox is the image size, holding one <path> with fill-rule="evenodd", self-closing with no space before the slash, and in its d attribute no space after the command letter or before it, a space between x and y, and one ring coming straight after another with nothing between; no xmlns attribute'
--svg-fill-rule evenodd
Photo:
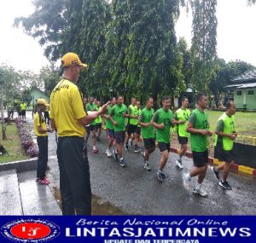
<svg viewBox="0 0 256 243"><path fill-rule="evenodd" d="M48 162L48 136L38 136L37 141L39 148L37 177L43 180Z"/></svg>

